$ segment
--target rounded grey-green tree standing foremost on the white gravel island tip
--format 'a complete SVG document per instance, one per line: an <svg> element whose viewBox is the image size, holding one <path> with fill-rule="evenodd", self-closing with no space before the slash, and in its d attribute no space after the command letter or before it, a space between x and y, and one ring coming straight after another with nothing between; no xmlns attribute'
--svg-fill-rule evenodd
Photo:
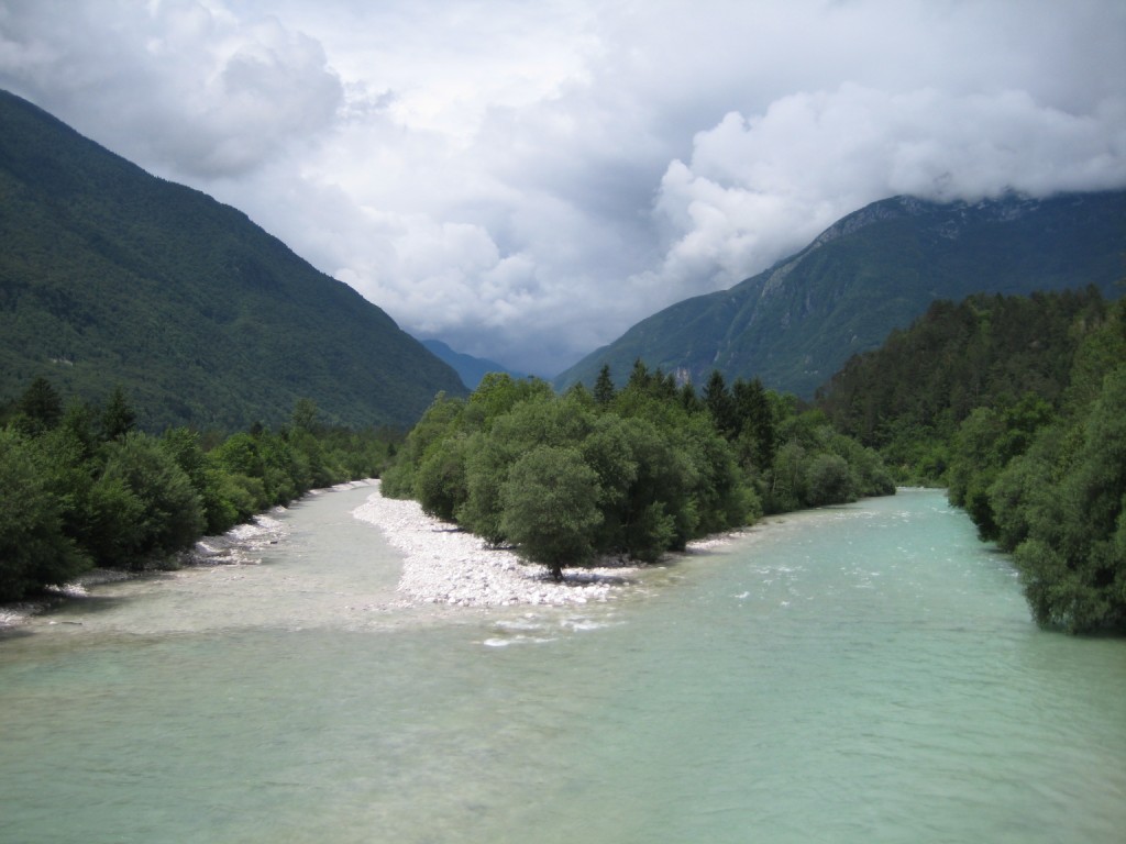
<svg viewBox="0 0 1126 844"><path fill-rule="evenodd" d="M563 567L589 559L602 520L598 476L574 448L539 446L518 459L501 491L502 526L521 556L563 578Z"/></svg>

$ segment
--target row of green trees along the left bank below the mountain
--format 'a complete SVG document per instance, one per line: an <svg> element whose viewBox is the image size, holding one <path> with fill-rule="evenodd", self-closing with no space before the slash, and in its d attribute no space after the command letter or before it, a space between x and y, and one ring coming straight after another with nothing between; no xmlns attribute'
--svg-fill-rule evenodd
<svg viewBox="0 0 1126 844"><path fill-rule="evenodd" d="M0 600L61 585L95 567L167 563L309 490L375 477L394 454L388 430L318 422L301 399L278 431L223 438L188 428L137 430L124 393L104 406L36 379L0 428Z"/></svg>

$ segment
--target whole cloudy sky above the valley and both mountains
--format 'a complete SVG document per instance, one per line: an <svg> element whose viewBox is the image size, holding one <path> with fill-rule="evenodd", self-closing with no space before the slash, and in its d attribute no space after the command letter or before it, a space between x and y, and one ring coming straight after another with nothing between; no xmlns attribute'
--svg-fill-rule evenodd
<svg viewBox="0 0 1126 844"><path fill-rule="evenodd" d="M888 196L1126 187L1123 0L0 0L0 88L544 377Z"/></svg>

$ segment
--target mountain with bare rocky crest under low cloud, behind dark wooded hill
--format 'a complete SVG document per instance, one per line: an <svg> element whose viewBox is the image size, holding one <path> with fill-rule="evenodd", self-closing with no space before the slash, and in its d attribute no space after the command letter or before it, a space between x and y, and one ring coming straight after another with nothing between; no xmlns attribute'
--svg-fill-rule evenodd
<svg viewBox="0 0 1126 844"><path fill-rule="evenodd" d="M894 197L850 214L769 270L643 320L557 376L625 379L635 360L703 384L760 377L810 397L848 358L879 347L936 299L1096 285L1121 294L1126 191L980 203Z"/></svg>

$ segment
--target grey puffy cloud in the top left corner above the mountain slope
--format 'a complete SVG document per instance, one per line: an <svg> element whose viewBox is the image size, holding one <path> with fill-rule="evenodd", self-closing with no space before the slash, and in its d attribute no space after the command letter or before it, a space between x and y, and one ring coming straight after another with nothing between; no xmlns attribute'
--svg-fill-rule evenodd
<svg viewBox="0 0 1126 844"><path fill-rule="evenodd" d="M188 179L259 167L342 100L316 41L193 0L6 2L0 72L115 151Z"/></svg>

